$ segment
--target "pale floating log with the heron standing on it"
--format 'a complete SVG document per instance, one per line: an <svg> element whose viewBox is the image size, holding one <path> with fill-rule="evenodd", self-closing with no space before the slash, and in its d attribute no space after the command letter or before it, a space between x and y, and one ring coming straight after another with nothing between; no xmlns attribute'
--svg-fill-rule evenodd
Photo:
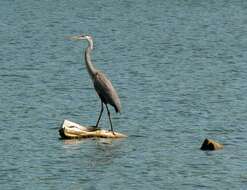
<svg viewBox="0 0 247 190"><path fill-rule="evenodd" d="M127 137L124 134L117 133L114 131L104 130L101 128L95 128L91 126L82 126L77 123L71 122L69 120L64 120L61 128L59 129L59 134L62 138L124 138Z"/></svg>

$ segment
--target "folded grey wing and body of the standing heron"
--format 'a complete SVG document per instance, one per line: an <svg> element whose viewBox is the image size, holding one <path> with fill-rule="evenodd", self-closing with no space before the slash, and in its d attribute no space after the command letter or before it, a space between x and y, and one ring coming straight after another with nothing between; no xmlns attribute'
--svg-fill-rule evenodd
<svg viewBox="0 0 247 190"><path fill-rule="evenodd" d="M114 106L116 112L120 112L121 103L117 91L110 80L102 72L97 72L94 78L94 88L104 103Z"/></svg>

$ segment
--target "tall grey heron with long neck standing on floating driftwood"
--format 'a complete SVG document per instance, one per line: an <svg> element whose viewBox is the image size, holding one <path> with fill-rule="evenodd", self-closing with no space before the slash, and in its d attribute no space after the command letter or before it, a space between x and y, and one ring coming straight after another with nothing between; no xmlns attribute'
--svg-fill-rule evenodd
<svg viewBox="0 0 247 190"><path fill-rule="evenodd" d="M107 106L107 104L112 105L115 108L115 111L118 113L121 110L121 103L119 96L117 94L117 91L115 88L112 86L111 81L105 76L105 74L96 69L91 61L91 52L93 50L93 38L90 35L78 35L78 36L73 36L70 39L72 40L87 40L88 46L85 50L85 64L87 71L93 81L94 88L97 92L97 94L100 97L101 100L101 110L100 110L100 115L97 120L96 126L98 127L100 118L102 116L102 113L104 111L104 105L106 106L110 125L111 125L111 131L114 134L113 127L112 127L112 121L111 121L111 114L110 110Z"/></svg>

